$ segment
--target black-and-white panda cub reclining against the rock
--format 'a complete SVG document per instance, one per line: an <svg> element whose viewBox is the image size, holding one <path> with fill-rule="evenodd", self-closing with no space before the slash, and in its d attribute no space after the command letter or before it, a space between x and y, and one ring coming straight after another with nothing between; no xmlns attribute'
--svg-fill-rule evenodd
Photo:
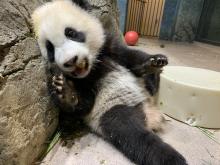
<svg viewBox="0 0 220 165"><path fill-rule="evenodd" d="M158 74L166 57L119 44L87 9L85 0L57 0L32 15L54 102L136 164L186 165L151 131L149 94L138 78Z"/></svg>

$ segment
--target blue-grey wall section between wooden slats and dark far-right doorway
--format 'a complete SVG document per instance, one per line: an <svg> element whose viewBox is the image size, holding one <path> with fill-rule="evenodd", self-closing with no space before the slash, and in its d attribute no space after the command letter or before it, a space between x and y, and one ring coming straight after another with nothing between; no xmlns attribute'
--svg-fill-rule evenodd
<svg viewBox="0 0 220 165"><path fill-rule="evenodd" d="M169 0L165 2L160 38L172 41L195 39L204 0Z"/></svg>

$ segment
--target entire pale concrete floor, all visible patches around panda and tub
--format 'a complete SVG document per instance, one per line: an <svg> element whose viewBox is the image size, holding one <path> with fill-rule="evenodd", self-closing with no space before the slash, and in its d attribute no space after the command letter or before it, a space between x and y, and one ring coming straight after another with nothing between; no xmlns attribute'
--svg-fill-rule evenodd
<svg viewBox="0 0 220 165"><path fill-rule="evenodd" d="M161 48L160 45L164 45ZM135 48L148 53L162 53L169 57L169 65L184 65L220 71L220 47L198 43L173 43L155 39L139 40ZM164 131L160 136L180 153L190 165L220 165L220 131L188 126L165 116ZM121 153L92 134L74 140L70 148L58 143L46 156L42 165L131 165Z"/></svg>

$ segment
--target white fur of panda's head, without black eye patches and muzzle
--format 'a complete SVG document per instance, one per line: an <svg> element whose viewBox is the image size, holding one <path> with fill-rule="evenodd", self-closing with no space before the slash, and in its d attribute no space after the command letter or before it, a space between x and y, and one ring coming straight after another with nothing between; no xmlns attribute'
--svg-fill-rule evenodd
<svg viewBox="0 0 220 165"><path fill-rule="evenodd" d="M61 69L64 69L64 62L76 54L80 58L81 55L87 56L89 62L93 62L104 43L100 21L68 0L45 3L33 13L32 20L42 55L47 58L45 43L51 41L55 46L55 60ZM83 32L86 42L67 42L64 35L67 27Z"/></svg>

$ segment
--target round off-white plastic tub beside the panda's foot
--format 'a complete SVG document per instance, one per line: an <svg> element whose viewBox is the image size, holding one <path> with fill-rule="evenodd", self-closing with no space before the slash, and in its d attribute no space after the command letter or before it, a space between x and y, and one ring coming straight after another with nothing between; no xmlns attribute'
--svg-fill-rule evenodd
<svg viewBox="0 0 220 165"><path fill-rule="evenodd" d="M189 125L220 128L220 73L183 66L165 67L158 105L165 114Z"/></svg>

